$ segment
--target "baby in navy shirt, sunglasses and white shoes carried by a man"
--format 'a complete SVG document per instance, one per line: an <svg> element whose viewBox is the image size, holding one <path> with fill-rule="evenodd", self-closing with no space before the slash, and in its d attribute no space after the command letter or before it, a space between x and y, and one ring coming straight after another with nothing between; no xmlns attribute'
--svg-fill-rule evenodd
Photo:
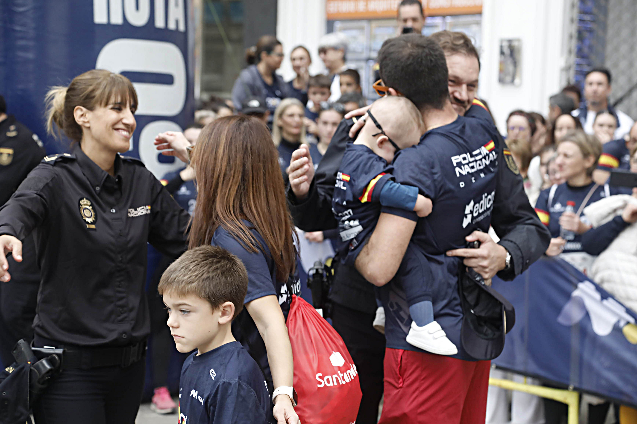
<svg viewBox="0 0 637 424"><path fill-rule="evenodd" d="M340 233L338 250L346 263L354 265L376 227L382 207L415 211L419 217L431 213L431 200L420 195L417 188L395 182L394 168L389 165L399 150L418 144L424 132L422 114L414 104L404 97L388 96L374 102L356 139L345 147L332 208ZM458 353L457 346L434 320L433 276L426 257L412 243L398 273L412 317L408 343L439 355ZM374 322L379 331L384 327L383 317L379 304Z"/></svg>

